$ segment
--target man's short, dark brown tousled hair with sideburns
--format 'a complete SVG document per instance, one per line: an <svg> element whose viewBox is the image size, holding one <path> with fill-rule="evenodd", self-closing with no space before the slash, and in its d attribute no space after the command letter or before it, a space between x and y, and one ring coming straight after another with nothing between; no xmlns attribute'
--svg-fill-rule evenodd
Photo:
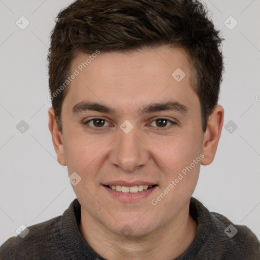
<svg viewBox="0 0 260 260"><path fill-rule="evenodd" d="M207 17L206 8L198 1L77 0L57 15L52 30L48 53L50 94L54 96L66 81L78 51L182 47L196 72L194 90L199 96L205 132L222 81L222 40ZM67 89L51 99L60 131L61 106Z"/></svg>

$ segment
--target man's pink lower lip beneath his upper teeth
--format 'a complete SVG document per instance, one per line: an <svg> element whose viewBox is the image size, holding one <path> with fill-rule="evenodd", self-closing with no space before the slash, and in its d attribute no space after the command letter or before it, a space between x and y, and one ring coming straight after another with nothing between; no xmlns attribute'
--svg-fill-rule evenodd
<svg viewBox="0 0 260 260"><path fill-rule="evenodd" d="M154 187L151 187L149 189L145 189L143 191L138 191L135 193L131 192L121 192L113 190L105 185L103 187L118 201L120 202L137 202L140 201L146 197L148 197L155 189L157 189L157 185Z"/></svg>

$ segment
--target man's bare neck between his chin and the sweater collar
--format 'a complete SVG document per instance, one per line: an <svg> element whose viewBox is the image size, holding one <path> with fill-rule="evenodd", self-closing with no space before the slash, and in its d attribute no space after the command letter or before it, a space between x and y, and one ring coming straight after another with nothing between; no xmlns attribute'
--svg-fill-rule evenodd
<svg viewBox="0 0 260 260"><path fill-rule="evenodd" d="M110 232L81 209L80 231L89 246L108 260L172 260L180 256L196 236L197 222L188 214L189 204L172 221L142 237Z"/></svg>

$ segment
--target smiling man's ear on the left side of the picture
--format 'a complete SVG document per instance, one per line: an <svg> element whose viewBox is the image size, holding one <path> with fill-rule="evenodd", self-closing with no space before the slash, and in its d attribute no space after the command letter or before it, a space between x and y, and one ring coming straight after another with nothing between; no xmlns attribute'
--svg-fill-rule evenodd
<svg viewBox="0 0 260 260"><path fill-rule="evenodd" d="M59 131L58 124L55 120L55 113L53 108L49 108L49 129L52 136L52 143L57 154L58 162L61 165L67 165L64 155L64 146L62 141L62 134Z"/></svg>

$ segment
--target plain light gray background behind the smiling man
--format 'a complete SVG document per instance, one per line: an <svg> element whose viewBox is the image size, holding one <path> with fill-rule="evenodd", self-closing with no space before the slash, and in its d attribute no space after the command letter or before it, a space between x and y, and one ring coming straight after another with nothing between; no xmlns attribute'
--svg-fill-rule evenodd
<svg viewBox="0 0 260 260"><path fill-rule="evenodd" d="M61 215L76 198L67 168L59 165L48 129L47 50L54 18L69 0L0 0L0 244L16 229ZM223 44L225 109L218 151L203 166L193 197L260 238L260 1L205 1ZM16 21L30 22L21 30ZM232 30L224 21L233 16ZM229 27L235 25L229 18ZM23 23L24 24L24 23ZM258 100L258 101L257 101ZM20 133L24 120L29 129Z"/></svg>

